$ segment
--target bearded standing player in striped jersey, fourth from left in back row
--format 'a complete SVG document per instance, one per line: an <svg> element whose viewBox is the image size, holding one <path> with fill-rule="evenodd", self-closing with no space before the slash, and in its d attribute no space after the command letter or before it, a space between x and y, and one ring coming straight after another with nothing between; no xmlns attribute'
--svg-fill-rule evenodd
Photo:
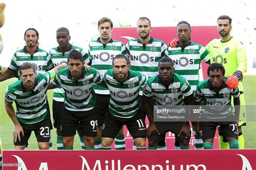
<svg viewBox="0 0 256 170"><path fill-rule="evenodd" d="M166 45L163 40L158 40L150 36L152 31L150 19L140 17L137 21L137 39L131 39L126 44L127 56L131 57L131 70L139 71L147 77L153 77L158 73L158 61L164 56ZM139 90L140 106L142 107L143 87ZM153 103L153 100L151 100ZM144 117L146 113L143 110ZM134 143L133 143L133 148ZM166 148L163 144L159 148Z"/></svg>

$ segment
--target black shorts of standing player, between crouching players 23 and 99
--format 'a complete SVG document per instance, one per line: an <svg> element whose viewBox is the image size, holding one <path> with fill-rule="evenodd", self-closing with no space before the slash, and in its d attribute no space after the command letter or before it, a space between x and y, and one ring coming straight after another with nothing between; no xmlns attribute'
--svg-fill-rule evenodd
<svg viewBox="0 0 256 170"><path fill-rule="evenodd" d="M64 102L52 101L52 116L53 116L53 126L60 130L60 124L62 121L62 110Z"/></svg>

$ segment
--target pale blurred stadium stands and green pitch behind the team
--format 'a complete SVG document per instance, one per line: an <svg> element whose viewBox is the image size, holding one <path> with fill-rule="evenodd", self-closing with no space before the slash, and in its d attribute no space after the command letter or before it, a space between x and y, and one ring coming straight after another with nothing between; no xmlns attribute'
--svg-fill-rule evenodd
<svg viewBox="0 0 256 170"><path fill-rule="evenodd" d="M220 15L229 15L232 19L232 36L244 43L247 50L248 68L244 78L246 103L255 105L256 70L256 17L253 15L256 2L248 1L13 1L4 0L5 25L1 29L4 49L0 55L1 65L8 66L12 54L25 45L24 31L35 27L39 32L40 47L49 51L57 46L55 32L65 26L70 30L71 44L87 48L91 38L98 36L97 21L103 16L113 20L114 27L136 27L139 17L146 16L152 27L176 26L180 20L187 20L191 26L215 26ZM220 12L223 10L223 12ZM114 32L115 30L113 30ZM135 29L134 29L135 31ZM193 35L193 30L192 30ZM192 39L193 40L193 39ZM254 47L254 48L253 48ZM254 67L253 67L254 66ZM4 109L4 91L15 79L0 83L0 138L3 149L12 149L14 125ZM49 91L52 93L52 91ZM49 97L52 96L49 93ZM52 102L49 100L50 103ZM51 105L51 104L50 104ZM244 128L245 147L256 148L255 122L248 122ZM51 131L55 144L55 130ZM36 149L35 136L30 139L30 149ZM250 141L250 142L249 142ZM56 146L55 146L56 147ZM53 147L53 148L55 148ZM76 139L75 149L79 149Z"/></svg>

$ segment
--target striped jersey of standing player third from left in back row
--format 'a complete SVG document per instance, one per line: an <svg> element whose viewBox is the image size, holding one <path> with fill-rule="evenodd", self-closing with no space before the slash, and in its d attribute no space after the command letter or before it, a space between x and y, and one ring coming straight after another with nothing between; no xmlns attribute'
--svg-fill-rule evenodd
<svg viewBox="0 0 256 170"><path fill-rule="evenodd" d="M96 68L101 75L106 70L112 69L112 60L117 54L126 54L124 43L117 40L110 40L106 45L100 39L93 40L89 44L89 55L92 61L91 66ZM96 94L109 95L109 89L94 84Z"/></svg>

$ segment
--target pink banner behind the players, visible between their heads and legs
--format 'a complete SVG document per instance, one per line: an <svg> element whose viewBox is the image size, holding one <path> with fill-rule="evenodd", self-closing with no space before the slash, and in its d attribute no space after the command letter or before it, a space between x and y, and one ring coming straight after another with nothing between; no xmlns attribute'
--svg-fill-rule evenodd
<svg viewBox="0 0 256 170"><path fill-rule="evenodd" d="M151 36L156 39L163 40L166 45L169 44L169 42L173 38L177 38L176 34L176 27L153 27ZM136 31L135 27L129 27L129 28L114 28L112 32L112 38L126 43L131 38L138 38L138 33ZM198 44L201 44L203 46L206 46L208 42L211 40L219 38L219 34L217 31L217 26L192 26L191 27L191 41L197 42ZM202 68L203 68L203 75L204 79L207 78L207 64L202 62ZM146 121L146 125L149 125L148 121ZM219 148L219 141L217 139L218 133L215 135L214 138L214 148ZM125 137L126 137L126 149L132 149L132 137L130 136L130 133L127 132L127 129L125 128ZM166 144L167 149L173 149L174 148L174 135L172 133L166 134ZM194 148L194 136L192 134L191 140L190 140L190 148Z"/></svg>

